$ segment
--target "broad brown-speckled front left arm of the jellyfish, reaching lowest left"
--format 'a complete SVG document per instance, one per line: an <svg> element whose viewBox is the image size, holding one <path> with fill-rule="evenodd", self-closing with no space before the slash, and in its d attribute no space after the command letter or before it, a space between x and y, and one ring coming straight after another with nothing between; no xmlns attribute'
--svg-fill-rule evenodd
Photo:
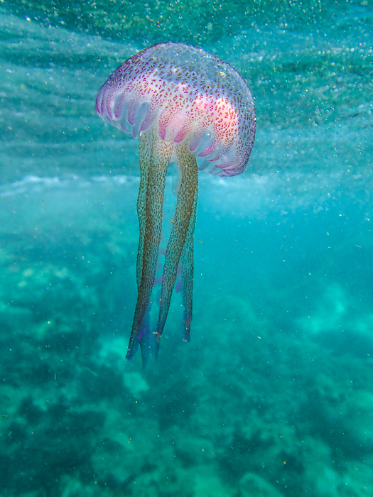
<svg viewBox="0 0 373 497"><path fill-rule="evenodd" d="M144 138L144 141L146 141L146 138ZM162 231L163 195L171 152L172 143L161 140L161 138L158 137L158 133L153 131L153 143L151 147L150 165L148 168L145 202L144 192L141 193L141 198L139 200L140 208L144 208L145 204L145 226L143 224L140 228L139 250L141 250L142 253L138 258L137 266L137 276L140 280L139 295L137 296L134 322L132 324L131 337L129 339L129 347L126 354L127 359L131 359L132 356L134 356L139 344L141 346L143 361L146 360L148 356L147 349L150 342L148 334L150 331L144 318L146 317L150 305L151 291L156 275L158 249ZM145 182L146 180L144 180L144 183ZM143 212L139 213L139 219L140 224L144 223Z"/></svg>

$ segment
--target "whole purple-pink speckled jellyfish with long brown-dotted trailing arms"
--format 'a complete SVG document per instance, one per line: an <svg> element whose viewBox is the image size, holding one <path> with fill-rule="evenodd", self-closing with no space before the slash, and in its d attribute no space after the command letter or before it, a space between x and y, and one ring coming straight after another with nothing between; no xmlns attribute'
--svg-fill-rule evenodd
<svg viewBox="0 0 373 497"><path fill-rule="evenodd" d="M232 66L202 48L169 42L146 48L119 66L99 90L96 109L109 124L140 137L138 296L126 358L131 359L140 344L145 366L151 352L157 357L177 275L181 277L182 337L189 341L198 170L220 176L244 171L254 145L254 102ZM180 180L164 253L158 322L152 329L149 312L171 162Z"/></svg>

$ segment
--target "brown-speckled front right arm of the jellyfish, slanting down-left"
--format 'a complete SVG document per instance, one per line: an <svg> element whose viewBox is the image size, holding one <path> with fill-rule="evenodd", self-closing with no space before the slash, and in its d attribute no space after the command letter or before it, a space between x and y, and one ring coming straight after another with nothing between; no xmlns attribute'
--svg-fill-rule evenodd
<svg viewBox="0 0 373 497"><path fill-rule="evenodd" d="M168 310L170 308L171 295L175 286L176 273L180 256L183 252L185 241L188 244L188 256L190 259L190 245L193 244L195 206L197 204L198 192L198 166L195 155L188 151L185 145L174 144L174 151L181 172L181 182L178 190L178 200L176 201L175 217L168 240L165 262L163 266L161 298L159 300L159 318L156 329L156 354L159 341L166 323ZM191 253L193 259L193 252ZM193 264L191 266L193 268ZM190 269L190 262L189 262ZM191 287L193 285L193 275L188 276L188 312L191 312ZM190 294L190 295L189 295ZM190 314L191 319L191 314ZM189 323L190 324L190 323Z"/></svg>

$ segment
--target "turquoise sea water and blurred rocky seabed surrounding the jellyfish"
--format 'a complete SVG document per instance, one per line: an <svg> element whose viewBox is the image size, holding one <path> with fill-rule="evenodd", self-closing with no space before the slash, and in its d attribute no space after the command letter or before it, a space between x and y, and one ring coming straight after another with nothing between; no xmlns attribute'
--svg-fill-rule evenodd
<svg viewBox="0 0 373 497"><path fill-rule="evenodd" d="M372 0L0 1L1 497L371 496ZM166 40L257 132L200 173L190 342L173 295L143 371L139 142L94 101Z"/></svg>

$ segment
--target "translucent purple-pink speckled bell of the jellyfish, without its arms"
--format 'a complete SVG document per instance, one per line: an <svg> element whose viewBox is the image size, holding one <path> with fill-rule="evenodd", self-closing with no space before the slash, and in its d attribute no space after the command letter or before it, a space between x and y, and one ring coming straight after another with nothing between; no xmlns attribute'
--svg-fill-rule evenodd
<svg viewBox="0 0 373 497"><path fill-rule="evenodd" d="M159 43L126 60L99 90L96 108L134 138L153 127L163 140L186 144L201 169L219 168L222 176L242 173L254 145L246 82L229 64L183 43Z"/></svg>

